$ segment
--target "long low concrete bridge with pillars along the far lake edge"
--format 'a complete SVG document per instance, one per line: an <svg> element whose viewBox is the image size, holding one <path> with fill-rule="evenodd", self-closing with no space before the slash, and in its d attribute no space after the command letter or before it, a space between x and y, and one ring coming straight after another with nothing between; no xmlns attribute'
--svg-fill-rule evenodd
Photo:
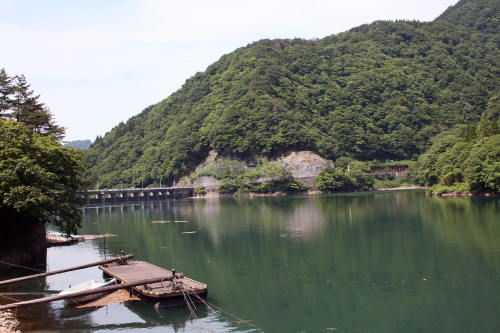
<svg viewBox="0 0 500 333"><path fill-rule="evenodd" d="M87 205L134 203L189 198L194 187L133 188L122 190L89 190L85 194Z"/></svg>

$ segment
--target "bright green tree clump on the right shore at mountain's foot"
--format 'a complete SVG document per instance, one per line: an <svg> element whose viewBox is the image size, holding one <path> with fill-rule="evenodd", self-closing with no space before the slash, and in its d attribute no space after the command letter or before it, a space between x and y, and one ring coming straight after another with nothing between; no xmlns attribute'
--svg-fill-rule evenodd
<svg viewBox="0 0 500 333"><path fill-rule="evenodd" d="M499 110L500 94L477 126L456 127L434 138L419 161L428 172L420 180L433 186L430 192L500 192Z"/></svg>

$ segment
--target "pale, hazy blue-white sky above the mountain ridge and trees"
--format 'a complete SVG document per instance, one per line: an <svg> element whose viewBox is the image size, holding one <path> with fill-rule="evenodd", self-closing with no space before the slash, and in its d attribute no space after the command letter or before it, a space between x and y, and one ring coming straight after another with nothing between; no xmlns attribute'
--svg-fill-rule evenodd
<svg viewBox="0 0 500 333"><path fill-rule="evenodd" d="M0 68L26 76L66 140L94 140L238 47L431 21L457 1L0 0Z"/></svg>

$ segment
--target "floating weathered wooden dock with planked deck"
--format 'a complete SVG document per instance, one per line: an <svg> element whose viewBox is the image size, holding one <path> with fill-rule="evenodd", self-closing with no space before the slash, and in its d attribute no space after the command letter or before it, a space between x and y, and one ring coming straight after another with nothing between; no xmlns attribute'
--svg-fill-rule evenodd
<svg viewBox="0 0 500 333"><path fill-rule="evenodd" d="M156 308L188 305L203 302L208 289L203 283L184 277L175 270L168 271L143 261L127 261L125 264L111 263L99 268L107 275L123 283L134 283L144 279L162 279L161 282L132 287L137 295Z"/></svg>

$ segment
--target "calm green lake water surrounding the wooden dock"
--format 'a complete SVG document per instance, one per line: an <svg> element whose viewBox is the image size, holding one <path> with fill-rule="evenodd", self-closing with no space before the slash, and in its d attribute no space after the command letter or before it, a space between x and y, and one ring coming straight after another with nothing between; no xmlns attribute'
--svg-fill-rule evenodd
<svg viewBox="0 0 500 333"><path fill-rule="evenodd" d="M60 301L17 310L25 332L500 331L498 198L379 191L86 207L80 234L116 237L50 248L48 270L125 251L207 284L210 306L193 316L140 301L90 310ZM101 271L9 292L92 278Z"/></svg>

